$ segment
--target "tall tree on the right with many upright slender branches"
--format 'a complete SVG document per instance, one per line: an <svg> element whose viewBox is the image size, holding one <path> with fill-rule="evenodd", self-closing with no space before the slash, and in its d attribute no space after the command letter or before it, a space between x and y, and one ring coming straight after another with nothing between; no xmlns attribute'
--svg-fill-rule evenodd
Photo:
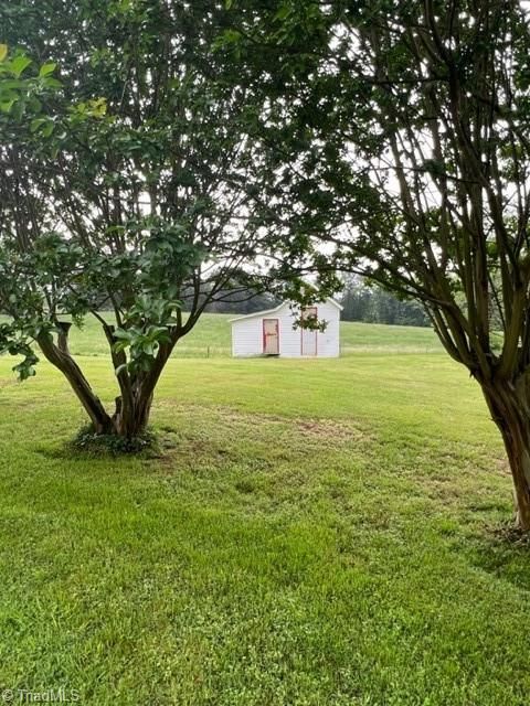
<svg viewBox="0 0 530 706"><path fill-rule="evenodd" d="M357 272L422 302L447 353L481 387L529 531L524 3L245 7L234 18L237 52L269 96L252 129L268 149L271 223L290 274L312 253L322 275Z"/></svg>

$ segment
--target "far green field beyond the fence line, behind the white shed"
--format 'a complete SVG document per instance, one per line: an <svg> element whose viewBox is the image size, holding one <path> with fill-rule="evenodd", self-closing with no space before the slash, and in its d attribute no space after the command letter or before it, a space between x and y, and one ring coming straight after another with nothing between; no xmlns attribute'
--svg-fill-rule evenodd
<svg viewBox="0 0 530 706"><path fill-rule="evenodd" d="M104 314L109 321L110 314ZM173 357L229 357L231 324L235 314L203 314L198 325L177 344ZM359 352L433 353L441 345L431 329L388 327L343 321L343 355ZM72 328L70 347L75 355L108 355L108 344L99 322L87 317L82 329Z"/></svg>

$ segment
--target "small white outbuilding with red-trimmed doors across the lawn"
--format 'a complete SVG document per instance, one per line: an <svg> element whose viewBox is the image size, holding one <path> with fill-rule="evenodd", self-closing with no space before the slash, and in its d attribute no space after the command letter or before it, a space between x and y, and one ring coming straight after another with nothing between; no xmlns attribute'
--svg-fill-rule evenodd
<svg viewBox="0 0 530 706"><path fill-rule="evenodd" d="M326 322L324 331L295 327L300 308L289 301L267 311L232 319L232 355L278 355L282 357L338 357L340 355L340 312L335 299L304 309L304 317Z"/></svg>

